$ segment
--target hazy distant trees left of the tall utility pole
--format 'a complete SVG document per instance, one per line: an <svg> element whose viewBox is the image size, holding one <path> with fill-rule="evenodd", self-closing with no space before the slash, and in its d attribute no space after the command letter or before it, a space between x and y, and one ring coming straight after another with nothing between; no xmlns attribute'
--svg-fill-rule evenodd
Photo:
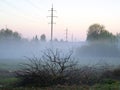
<svg viewBox="0 0 120 90"><path fill-rule="evenodd" d="M11 29L1 29L0 30L0 42L11 42L11 41L26 41L27 39L23 38L22 35L18 32L13 32L13 30ZM40 39L38 38L38 36L36 35L35 37L32 38L33 42L37 42L37 41L42 41L45 42L46 41L46 35L42 34L40 36Z"/></svg>

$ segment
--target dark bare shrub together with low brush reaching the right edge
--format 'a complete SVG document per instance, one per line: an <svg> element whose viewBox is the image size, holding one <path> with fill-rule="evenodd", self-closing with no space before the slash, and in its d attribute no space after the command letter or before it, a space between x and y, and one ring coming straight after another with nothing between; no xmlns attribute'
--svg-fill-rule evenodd
<svg viewBox="0 0 120 90"><path fill-rule="evenodd" d="M16 71L20 86L94 85L120 80L119 68L111 69L107 64L80 67L72 58L72 52L64 54L59 50L48 49L41 58L27 59L29 62L22 64L22 68Z"/></svg>

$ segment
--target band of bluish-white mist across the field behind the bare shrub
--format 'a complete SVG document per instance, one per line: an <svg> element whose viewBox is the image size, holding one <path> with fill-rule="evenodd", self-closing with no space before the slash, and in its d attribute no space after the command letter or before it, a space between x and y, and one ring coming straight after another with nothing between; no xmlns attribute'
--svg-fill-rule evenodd
<svg viewBox="0 0 120 90"><path fill-rule="evenodd" d="M81 65L120 64L120 50L110 44L88 42L4 42L0 44L0 62L26 62L27 58L41 58L47 49L73 52L72 57Z"/></svg>

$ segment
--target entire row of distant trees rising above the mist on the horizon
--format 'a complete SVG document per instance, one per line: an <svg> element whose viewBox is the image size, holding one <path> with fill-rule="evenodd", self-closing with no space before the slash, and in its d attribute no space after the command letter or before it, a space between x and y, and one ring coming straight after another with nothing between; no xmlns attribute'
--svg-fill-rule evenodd
<svg viewBox="0 0 120 90"><path fill-rule="evenodd" d="M21 36L21 34L18 32L13 32L12 30L10 30L8 28L0 30L0 41L21 41L21 40L24 41L25 38L23 38ZM40 38L36 35L35 37L32 38L31 41L45 42L46 35L42 34L40 36ZM54 41L57 42L58 39L55 38ZM61 39L60 41L63 41L63 40ZM120 33L113 35L108 30L106 30L104 25L92 24L88 28L86 41L89 41L89 42L95 42L95 41L117 42L117 41L120 41Z"/></svg>

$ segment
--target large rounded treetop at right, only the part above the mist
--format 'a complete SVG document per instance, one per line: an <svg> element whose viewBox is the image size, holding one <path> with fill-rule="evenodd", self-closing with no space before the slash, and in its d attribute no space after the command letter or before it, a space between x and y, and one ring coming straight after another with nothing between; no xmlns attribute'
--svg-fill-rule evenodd
<svg viewBox="0 0 120 90"><path fill-rule="evenodd" d="M108 32L103 25L93 24L88 29L87 41L116 41L116 36Z"/></svg>

